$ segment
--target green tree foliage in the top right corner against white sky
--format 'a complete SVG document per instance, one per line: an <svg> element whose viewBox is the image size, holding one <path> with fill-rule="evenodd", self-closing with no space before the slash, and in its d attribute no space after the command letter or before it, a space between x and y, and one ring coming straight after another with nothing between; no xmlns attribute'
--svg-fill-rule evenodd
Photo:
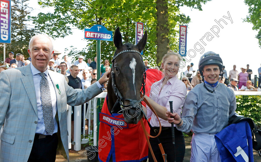
<svg viewBox="0 0 261 162"><path fill-rule="evenodd" d="M259 47L261 48L261 1L245 0L244 2L249 6L249 15L244 19L244 21L252 23L252 29L258 31L256 38L258 39Z"/></svg>

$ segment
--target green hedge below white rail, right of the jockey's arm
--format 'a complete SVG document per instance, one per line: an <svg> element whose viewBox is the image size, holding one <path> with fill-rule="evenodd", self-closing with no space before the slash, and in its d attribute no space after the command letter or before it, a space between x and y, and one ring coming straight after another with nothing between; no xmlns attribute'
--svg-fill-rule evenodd
<svg viewBox="0 0 261 162"><path fill-rule="evenodd" d="M257 127L261 127L261 97L237 95L236 113L253 119Z"/></svg>

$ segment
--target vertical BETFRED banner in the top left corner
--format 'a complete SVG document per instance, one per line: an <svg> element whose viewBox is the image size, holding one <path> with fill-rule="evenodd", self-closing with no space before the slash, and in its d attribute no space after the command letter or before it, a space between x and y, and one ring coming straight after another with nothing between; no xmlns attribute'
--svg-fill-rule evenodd
<svg viewBox="0 0 261 162"><path fill-rule="evenodd" d="M11 0L0 1L0 43L11 43Z"/></svg>

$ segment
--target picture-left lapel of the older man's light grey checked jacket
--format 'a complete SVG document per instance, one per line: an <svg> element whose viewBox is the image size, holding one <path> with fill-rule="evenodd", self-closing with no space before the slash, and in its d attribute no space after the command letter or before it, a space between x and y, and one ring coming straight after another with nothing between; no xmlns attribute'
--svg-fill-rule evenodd
<svg viewBox="0 0 261 162"><path fill-rule="evenodd" d="M21 77L22 83L25 87L30 102L34 108L34 112L37 115L36 94L35 94L34 80L33 80L30 64L25 66L24 71L22 71L22 73L24 74L24 76Z"/></svg>

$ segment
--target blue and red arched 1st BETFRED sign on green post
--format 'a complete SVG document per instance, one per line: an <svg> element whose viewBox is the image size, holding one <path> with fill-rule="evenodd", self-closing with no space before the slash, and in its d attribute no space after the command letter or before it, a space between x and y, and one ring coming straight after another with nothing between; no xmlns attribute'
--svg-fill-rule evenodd
<svg viewBox="0 0 261 162"><path fill-rule="evenodd" d="M108 31L102 25L94 25L90 29L85 28L85 39L112 41L112 31Z"/></svg>

